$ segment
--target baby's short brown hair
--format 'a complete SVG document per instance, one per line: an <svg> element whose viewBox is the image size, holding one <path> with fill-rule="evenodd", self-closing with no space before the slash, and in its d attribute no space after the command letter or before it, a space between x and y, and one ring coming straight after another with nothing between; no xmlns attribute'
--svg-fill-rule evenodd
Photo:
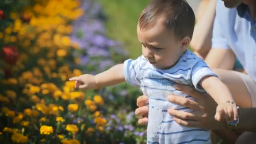
<svg viewBox="0 0 256 144"><path fill-rule="evenodd" d="M165 17L164 25L173 29L177 38L189 36L192 39L195 27L195 13L186 0L152 0L141 12L139 28L152 28L160 16Z"/></svg>

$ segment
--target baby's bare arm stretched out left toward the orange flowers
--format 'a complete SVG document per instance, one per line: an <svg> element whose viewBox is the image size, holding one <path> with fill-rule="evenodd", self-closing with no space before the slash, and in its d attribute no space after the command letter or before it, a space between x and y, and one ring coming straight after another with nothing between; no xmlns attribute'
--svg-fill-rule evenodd
<svg viewBox="0 0 256 144"><path fill-rule="evenodd" d="M123 64L117 64L97 75L84 74L78 77L72 77L69 80L75 80L75 87L83 89L95 89L108 85L115 85L125 81Z"/></svg>

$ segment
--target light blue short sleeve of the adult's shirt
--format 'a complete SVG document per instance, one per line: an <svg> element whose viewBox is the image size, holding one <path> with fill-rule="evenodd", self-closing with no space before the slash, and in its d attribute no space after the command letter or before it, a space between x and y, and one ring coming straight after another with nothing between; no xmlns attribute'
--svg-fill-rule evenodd
<svg viewBox="0 0 256 144"><path fill-rule="evenodd" d="M216 4L216 15L213 22L213 37L212 37L212 48L229 49L229 44L223 35L223 26L221 27L221 19L224 18L221 15L223 9L223 1L218 0ZM226 19L225 19L226 20ZM227 28L227 27L226 27Z"/></svg>

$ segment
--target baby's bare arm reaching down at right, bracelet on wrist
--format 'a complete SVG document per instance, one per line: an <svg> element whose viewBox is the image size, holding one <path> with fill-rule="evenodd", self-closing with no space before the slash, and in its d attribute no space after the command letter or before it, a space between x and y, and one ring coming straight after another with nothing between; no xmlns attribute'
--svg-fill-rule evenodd
<svg viewBox="0 0 256 144"><path fill-rule="evenodd" d="M216 120L221 121L224 118L227 121L237 120L237 106L227 85L215 76L203 77L200 81L200 85L218 104L215 115Z"/></svg>

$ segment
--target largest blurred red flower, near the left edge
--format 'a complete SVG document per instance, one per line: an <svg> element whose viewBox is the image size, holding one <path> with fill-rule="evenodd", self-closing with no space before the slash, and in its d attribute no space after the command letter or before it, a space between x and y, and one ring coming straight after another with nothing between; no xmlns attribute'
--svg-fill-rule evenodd
<svg viewBox="0 0 256 144"><path fill-rule="evenodd" d="M19 52L16 46L3 47L3 60L8 64L15 64L19 59Z"/></svg>

